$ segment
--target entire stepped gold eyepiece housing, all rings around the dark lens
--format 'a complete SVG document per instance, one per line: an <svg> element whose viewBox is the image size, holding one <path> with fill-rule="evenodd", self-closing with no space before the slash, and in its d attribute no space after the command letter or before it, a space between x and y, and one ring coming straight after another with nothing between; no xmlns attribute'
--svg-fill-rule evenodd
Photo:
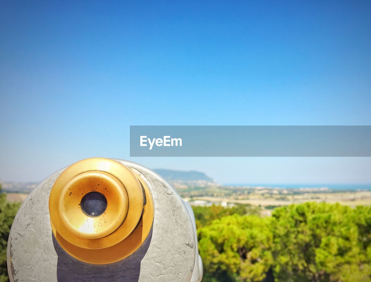
<svg viewBox="0 0 371 282"><path fill-rule="evenodd" d="M91 216L81 207L90 192L104 195L107 207ZM106 264L126 258L147 238L154 206L145 181L121 163L90 158L66 168L49 197L50 224L63 249L88 263Z"/></svg>

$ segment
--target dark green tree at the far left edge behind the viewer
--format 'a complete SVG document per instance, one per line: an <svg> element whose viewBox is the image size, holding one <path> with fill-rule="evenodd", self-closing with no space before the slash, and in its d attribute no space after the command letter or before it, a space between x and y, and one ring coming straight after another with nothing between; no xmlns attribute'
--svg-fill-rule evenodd
<svg viewBox="0 0 371 282"><path fill-rule="evenodd" d="M8 202L6 195L1 192L0 186L0 282L9 281L7 263L6 263L6 249L8 244L8 237L10 227L13 219L20 207L18 202Z"/></svg>

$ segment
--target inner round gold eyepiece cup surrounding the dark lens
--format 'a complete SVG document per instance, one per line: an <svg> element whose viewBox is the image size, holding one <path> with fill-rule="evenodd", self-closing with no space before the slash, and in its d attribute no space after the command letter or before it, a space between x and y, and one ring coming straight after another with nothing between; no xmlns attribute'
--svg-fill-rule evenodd
<svg viewBox="0 0 371 282"><path fill-rule="evenodd" d="M86 197L89 195L101 195L101 201L90 200L90 214L88 211L84 212L82 207L84 204L88 209L89 199L86 200ZM76 236L102 238L114 232L124 222L128 202L126 189L116 177L104 171L86 171L68 181L60 192L59 218L66 229ZM105 207L101 212L99 209L102 210L103 205Z"/></svg>

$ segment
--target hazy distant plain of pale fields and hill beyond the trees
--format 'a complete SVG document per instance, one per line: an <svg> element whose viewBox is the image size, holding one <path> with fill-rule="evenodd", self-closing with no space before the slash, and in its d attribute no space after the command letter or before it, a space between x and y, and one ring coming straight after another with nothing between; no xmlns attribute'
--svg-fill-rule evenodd
<svg viewBox="0 0 371 282"><path fill-rule="evenodd" d="M207 206L211 204L251 204L274 208L303 202L327 202L356 207L371 205L371 191L364 185L350 185L349 188L332 189L323 187L297 187L293 185L255 186L221 185L213 178L198 171L175 171L154 169L170 182L182 198L191 205ZM7 192L8 201L23 202L27 195L37 187L38 182L0 182ZM343 187L347 187L343 185Z"/></svg>

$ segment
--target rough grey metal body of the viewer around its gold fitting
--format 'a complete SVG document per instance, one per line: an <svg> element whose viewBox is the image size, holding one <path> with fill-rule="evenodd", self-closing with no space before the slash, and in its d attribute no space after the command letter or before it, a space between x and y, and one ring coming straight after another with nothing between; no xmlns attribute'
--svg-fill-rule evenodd
<svg viewBox="0 0 371 282"><path fill-rule="evenodd" d="M68 255L52 235L49 194L65 169L46 178L24 201L10 230L7 259L11 282L184 281L202 278L194 215L160 175L133 162L154 199L150 235L134 254L108 265L81 262Z"/></svg>

